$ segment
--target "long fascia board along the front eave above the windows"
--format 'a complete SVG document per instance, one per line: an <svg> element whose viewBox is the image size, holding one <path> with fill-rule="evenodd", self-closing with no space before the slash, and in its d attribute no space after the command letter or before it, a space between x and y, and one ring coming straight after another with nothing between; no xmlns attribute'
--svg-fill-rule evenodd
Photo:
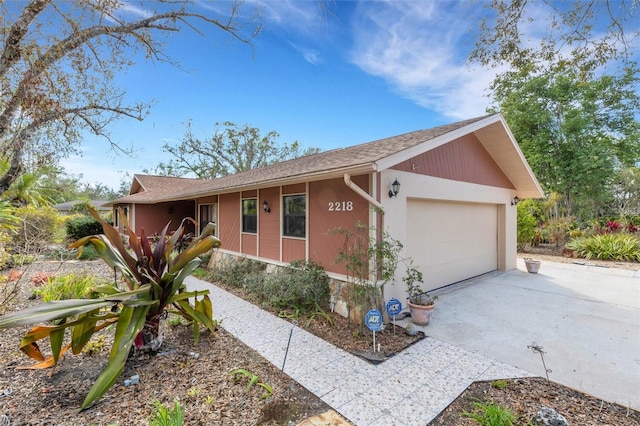
<svg viewBox="0 0 640 426"><path fill-rule="evenodd" d="M312 181L318 181L318 180L335 179L335 178L342 179L345 173L354 175L354 174L373 173L373 172L375 172L373 168L373 164L367 163L360 166L348 167L348 168L343 168L338 170L331 170L328 172L320 171L320 172L299 175L295 177L272 179L272 180L263 181L260 183L251 183L251 184L238 185L238 186L227 186L225 188L220 188L220 189L198 191L198 192L192 192L192 193L183 193L183 194L180 194L180 196L178 197L171 197L171 196L159 197L157 200L149 202L148 204L163 203L166 201L190 200L193 198L208 197L211 195L229 194L229 193L248 191L253 189L264 189L264 188L270 188L274 186L295 185L298 183L312 182Z"/></svg>

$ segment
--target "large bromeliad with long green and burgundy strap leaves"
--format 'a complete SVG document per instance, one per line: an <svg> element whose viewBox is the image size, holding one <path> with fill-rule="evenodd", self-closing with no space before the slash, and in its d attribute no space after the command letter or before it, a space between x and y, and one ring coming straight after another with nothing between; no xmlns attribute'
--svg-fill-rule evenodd
<svg viewBox="0 0 640 426"><path fill-rule="evenodd" d="M144 230L140 236L127 230L129 247L126 248L117 229L104 222L94 210L91 215L100 221L104 234L81 238L70 247L81 250L91 244L110 267L121 273L126 288L119 288L118 283L99 285L89 299L52 301L0 317L0 329L52 322L32 328L20 343L20 350L41 361L35 368L55 365L68 349L74 354L81 353L94 333L116 324L108 363L89 390L81 410L116 382L134 344L137 348L159 347L160 319L166 312L180 314L192 321L196 340L200 325L214 332L208 291L188 292L183 282L200 264L198 256L221 244L213 236L214 225L209 224L198 238L178 253L176 247L184 236L185 222L193 222L187 218L171 236L167 235L167 224L154 247ZM202 298L198 299L199 296ZM71 331L71 342L63 347L67 329ZM37 344L38 340L46 338L49 338L52 352L48 358Z"/></svg>

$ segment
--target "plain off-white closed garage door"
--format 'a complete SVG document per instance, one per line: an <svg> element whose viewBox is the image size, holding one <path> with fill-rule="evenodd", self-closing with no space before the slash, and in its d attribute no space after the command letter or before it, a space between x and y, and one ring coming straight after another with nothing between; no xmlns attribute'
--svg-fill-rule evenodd
<svg viewBox="0 0 640 426"><path fill-rule="evenodd" d="M407 201L407 253L433 290L497 269L498 207Z"/></svg>

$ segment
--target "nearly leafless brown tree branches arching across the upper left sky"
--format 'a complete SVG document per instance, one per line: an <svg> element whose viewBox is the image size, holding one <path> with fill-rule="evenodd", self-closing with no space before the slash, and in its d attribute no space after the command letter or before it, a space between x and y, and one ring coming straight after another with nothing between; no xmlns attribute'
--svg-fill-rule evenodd
<svg viewBox="0 0 640 426"><path fill-rule="evenodd" d="M0 149L11 166L0 177L0 192L24 170L27 147L37 154L32 146L46 146L43 151L56 158L79 146L81 130L89 129L107 138L113 148L117 144L105 131L111 121L144 118L146 106L123 106L124 93L111 95L115 72L132 64L129 51L141 48L148 59L179 66L163 53L155 36L184 28L200 33L194 25L197 21L251 46L261 31L260 25L253 31L238 26L239 3L231 5L228 15L217 18L188 10L192 5L197 7L191 0L163 2L164 10L133 21L119 17L117 3L58 3L31 0L3 30ZM55 13L42 14L47 6ZM83 13L70 13L68 9L74 7ZM40 22L42 16L62 22L60 35L47 32L47 26ZM47 145L36 139L36 134L49 138Z"/></svg>

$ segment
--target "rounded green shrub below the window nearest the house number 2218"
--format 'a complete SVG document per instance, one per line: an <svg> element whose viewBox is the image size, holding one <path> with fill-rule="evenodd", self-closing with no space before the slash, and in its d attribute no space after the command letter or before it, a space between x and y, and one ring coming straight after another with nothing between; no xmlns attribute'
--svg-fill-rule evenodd
<svg viewBox="0 0 640 426"><path fill-rule="evenodd" d="M326 304L329 277L317 263L296 261L267 276L262 291L271 306L309 312Z"/></svg>

